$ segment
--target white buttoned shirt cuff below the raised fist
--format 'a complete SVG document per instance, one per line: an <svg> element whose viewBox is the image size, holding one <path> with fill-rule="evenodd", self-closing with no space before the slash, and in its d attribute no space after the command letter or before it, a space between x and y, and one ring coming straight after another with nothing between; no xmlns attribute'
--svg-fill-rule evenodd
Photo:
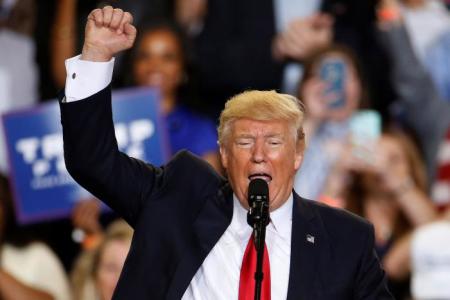
<svg viewBox="0 0 450 300"><path fill-rule="evenodd" d="M112 80L114 58L107 62L81 60L81 55L66 60L66 102L90 97Z"/></svg>

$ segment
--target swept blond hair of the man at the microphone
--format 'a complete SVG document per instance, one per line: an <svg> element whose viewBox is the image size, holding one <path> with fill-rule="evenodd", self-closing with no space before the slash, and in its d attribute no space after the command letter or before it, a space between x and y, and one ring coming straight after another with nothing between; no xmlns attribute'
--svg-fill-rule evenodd
<svg viewBox="0 0 450 300"><path fill-rule="evenodd" d="M225 103L220 114L218 136L219 144L226 142L230 127L237 119L256 121L283 120L291 124L296 141L303 141L304 109L294 96L276 91L245 91L237 94Z"/></svg>

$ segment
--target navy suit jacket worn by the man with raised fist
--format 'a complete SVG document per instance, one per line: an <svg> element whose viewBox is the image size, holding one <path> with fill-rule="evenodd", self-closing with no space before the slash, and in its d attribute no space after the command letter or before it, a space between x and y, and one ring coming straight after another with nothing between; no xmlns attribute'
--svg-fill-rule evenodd
<svg viewBox="0 0 450 300"><path fill-rule="evenodd" d="M135 229L114 299L180 299L231 222L233 192L187 151L162 167L119 152L110 99L107 87L61 103L67 169ZM292 216L288 299L392 299L371 225L295 193Z"/></svg>

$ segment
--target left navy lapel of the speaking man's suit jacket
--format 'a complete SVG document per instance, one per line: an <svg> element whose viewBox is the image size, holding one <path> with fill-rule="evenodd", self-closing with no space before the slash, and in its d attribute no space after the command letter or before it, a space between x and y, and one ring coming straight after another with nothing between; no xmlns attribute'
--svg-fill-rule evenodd
<svg viewBox="0 0 450 300"><path fill-rule="evenodd" d="M233 193L228 184L205 201L193 224L193 243L185 249L175 270L167 299L181 299L208 253L231 223Z"/></svg>

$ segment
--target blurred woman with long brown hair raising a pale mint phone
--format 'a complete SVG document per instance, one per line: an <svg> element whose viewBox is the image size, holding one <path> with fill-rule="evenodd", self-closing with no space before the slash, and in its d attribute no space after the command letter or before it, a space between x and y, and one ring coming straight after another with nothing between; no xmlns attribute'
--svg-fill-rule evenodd
<svg viewBox="0 0 450 300"><path fill-rule="evenodd" d="M375 248L391 290L403 299L409 290L409 233L437 217L427 195L424 164L411 139L398 129L381 135L373 161L356 157L352 146L343 152L324 194L374 225Z"/></svg>

